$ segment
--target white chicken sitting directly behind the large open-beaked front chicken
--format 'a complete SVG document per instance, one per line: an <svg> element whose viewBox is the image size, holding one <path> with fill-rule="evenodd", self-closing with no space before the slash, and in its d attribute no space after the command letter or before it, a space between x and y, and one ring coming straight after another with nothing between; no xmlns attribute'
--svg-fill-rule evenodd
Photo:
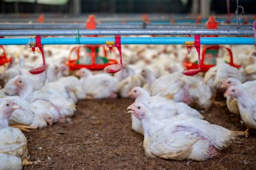
<svg viewBox="0 0 256 170"><path fill-rule="evenodd" d="M150 97L150 94L145 89L141 87L133 87L129 92L129 97L135 98L135 102L143 102L150 107L154 113L154 118L158 120L171 118L176 115L189 115L195 118L203 119L203 116L190 108L186 103L175 103L174 101L167 100L160 95ZM141 122L131 114L131 129L135 132L143 134L143 128Z"/></svg>

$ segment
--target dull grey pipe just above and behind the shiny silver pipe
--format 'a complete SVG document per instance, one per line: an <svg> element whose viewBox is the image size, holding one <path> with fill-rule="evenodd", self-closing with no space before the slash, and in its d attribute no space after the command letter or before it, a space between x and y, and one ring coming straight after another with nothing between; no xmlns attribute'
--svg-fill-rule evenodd
<svg viewBox="0 0 256 170"><path fill-rule="evenodd" d="M85 24L54 24L54 23L34 23L34 24L0 24L0 30L71 30L71 29L85 29ZM143 24L97 24L97 29L142 29ZM187 25L154 25L146 24L146 29L203 29L205 24L187 24ZM218 26L218 29L236 29L236 25ZM251 25L243 25L240 29L252 29Z"/></svg>

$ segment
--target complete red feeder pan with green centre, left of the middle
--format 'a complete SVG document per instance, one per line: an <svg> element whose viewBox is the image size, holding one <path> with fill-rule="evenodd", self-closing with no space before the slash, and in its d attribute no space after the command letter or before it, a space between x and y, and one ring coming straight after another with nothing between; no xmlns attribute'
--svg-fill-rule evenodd
<svg viewBox="0 0 256 170"><path fill-rule="evenodd" d="M79 64L79 58L81 57L80 56L80 49L82 47L90 49L90 52L87 52L88 56L91 57L91 63L90 64L86 64L86 65L85 64ZM96 50L100 47L104 48L104 46L98 46L98 45L75 46L74 48L71 49L71 51L69 53L69 60L67 61L67 66L69 67L69 69L71 71L82 69L82 68L86 68L86 69L89 69L91 71L99 71L99 70L103 70L108 65L118 64L117 60L108 59L108 58L105 57L106 56L105 48L104 48L104 56L101 57L104 64L96 63ZM71 54L75 51L77 52L77 58L71 59Z"/></svg>

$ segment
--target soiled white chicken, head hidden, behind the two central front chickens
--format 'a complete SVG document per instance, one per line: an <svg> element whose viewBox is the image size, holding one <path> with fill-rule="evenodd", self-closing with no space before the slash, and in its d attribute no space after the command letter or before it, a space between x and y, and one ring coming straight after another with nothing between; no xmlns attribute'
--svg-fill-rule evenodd
<svg viewBox="0 0 256 170"><path fill-rule="evenodd" d="M187 103L197 108L209 107L212 97L210 88L203 81L179 72L156 79L150 88L150 94L158 93L175 102Z"/></svg>

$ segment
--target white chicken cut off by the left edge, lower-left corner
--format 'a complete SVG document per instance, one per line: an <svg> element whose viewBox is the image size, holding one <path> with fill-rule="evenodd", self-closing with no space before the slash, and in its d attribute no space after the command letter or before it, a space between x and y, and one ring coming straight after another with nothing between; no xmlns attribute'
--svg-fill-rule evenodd
<svg viewBox="0 0 256 170"><path fill-rule="evenodd" d="M0 169L22 169L28 161L27 139L18 128L8 126L8 118L17 105L7 99L0 102Z"/></svg>

